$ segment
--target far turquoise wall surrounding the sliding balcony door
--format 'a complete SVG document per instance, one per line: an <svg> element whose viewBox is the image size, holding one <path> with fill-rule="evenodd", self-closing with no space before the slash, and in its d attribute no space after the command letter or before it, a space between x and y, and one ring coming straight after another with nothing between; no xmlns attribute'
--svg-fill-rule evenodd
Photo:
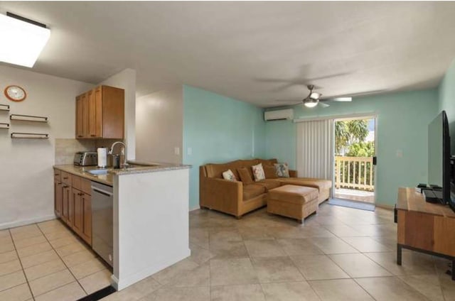
<svg viewBox="0 0 455 301"><path fill-rule="evenodd" d="M350 103L332 102L324 109L297 105L294 106L294 118L375 113L378 116L376 202L392 206L398 187L414 187L419 182L427 182L428 124L437 116L438 109L438 91L429 89L358 97ZM265 156L295 167L296 124L269 121L265 131ZM402 158L397 156L397 151L402 151Z"/></svg>

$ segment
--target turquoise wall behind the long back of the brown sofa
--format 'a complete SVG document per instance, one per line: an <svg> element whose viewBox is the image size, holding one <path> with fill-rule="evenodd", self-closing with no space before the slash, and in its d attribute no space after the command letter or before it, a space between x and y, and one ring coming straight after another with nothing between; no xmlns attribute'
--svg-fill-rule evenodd
<svg viewBox="0 0 455 301"><path fill-rule="evenodd" d="M199 205L199 166L265 155L262 109L183 86L183 164L190 170L190 208ZM191 155L188 154L191 148Z"/></svg>

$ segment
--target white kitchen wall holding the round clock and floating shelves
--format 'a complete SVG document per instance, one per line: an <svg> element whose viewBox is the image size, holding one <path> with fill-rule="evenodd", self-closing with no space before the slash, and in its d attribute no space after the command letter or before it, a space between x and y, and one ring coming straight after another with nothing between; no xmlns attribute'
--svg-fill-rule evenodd
<svg viewBox="0 0 455 301"><path fill-rule="evenodd" d="M26 89L23 102L10 102L4 88L18 84ZM0 229L54 217L53 170L55 138L75 136L75 96L92 84L66 80L9 66L0 66L0 122L9 114L47 116L48 124L12 121L0 129ZM50 139L11 139L11 132L49 133Z"/></svg>

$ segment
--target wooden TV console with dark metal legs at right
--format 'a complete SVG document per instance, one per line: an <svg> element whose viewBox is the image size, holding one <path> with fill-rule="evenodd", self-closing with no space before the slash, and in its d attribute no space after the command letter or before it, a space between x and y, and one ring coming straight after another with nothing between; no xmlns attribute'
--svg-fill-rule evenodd
<svg viewBox="0 0 455 301"><path fill-rule="evenodd" d="M455 212L448 206L425 202L414 188L398 189L397 264L402 248L448 258L455 280Z"/></svg>

